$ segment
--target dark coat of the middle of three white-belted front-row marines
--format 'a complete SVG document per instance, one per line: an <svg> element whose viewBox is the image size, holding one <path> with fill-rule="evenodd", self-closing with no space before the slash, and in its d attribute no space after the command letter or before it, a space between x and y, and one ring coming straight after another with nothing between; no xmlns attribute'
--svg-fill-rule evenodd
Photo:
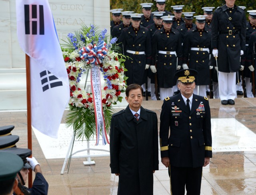
<svg viewBox="0 0 256 195"><path fill-rule="evenodd" d="M169 36L169 37L168 37ZM162 54L158 51L176 51L174 54ZM156 58L157 56L157 58ZM152 62L156 62L158 86L161 88L172 88L176 85L174 74L178 65L182 65L182 45L180 33L176 29L171 28L169 35L166 34L164 28L157 30L152 37Z"/></svg>

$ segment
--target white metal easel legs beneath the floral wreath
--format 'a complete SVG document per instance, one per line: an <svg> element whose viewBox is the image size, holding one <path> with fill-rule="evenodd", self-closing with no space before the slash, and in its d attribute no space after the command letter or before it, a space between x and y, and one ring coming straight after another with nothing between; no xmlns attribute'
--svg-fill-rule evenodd
<svg viewBox="0 0 256 195"><path fill-rule="evenodd" d="M73 133L73 136L70 140L70 144L69 144L69 147L68 147L68 152L66 154L66 158L64 160L64 163L63 163L63 166L62 166L62 169L60 171L60 174L63 175L64 174L64 169L65 169L65 166L66 166L66 163L67 163L67 160L68 160L68 166L67 166L67 169L69 171L69 167L70 167L70 162L71 162L71 158L80 158L80 157L85 157L87 158L87 161L84 161L84 165L95 165L95 162L93 160L91 160L91 157L98 157L98 156L109 156L110 154L94 154L94 155L91 155L90 154L90 150L94 150L94 151L103 151L103 152L110 152L109 150L103 150L103 149L96 149L96 148L90 148L90 140L87 140L87 148L86 149L83 149L83 150L78 150L74 153L73 152L73 148L74 148L74 141L75 141L75 137L76 137L76 132ZM79 152L84 152L84 151L87 151L87 155L85 156L78 156L78 157L73 157L74 154L77 154ZM69 156L69 159L68 159L68 156ZM65 171L66 172L66 171Z"/></svg>

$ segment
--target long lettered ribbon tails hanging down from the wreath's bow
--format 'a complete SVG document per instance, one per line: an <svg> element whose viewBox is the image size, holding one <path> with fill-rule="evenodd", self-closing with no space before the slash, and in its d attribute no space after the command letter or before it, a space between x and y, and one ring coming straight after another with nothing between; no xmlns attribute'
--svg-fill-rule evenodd
<svg viewBox="0 0 256 195"><path fill-rule="evenodd" d="M102 144L109 144L106 126L103 116L102 99L101 99L101 85L100 85L100 67L96 64L92 64L91 68L91 86L92 86L92 97L94 102L94 114L96 122L96 146L100 140L100 130L102 130Z"/></svg>

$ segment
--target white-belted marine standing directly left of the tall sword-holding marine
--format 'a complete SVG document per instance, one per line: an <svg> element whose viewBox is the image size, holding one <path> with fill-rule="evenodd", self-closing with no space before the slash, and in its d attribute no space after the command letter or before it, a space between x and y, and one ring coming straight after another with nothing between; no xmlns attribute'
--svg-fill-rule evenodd
<svg viewBox="0 0 256 195"><path fill-rule="evenodd" d="M194 93L206 97L206 86L210 84L211 31L204 28L206 16L194 16L196 27L188 30L183 43L183 69L194 69L196 88ZM187 65L188 64L188 65Z"/></svg>

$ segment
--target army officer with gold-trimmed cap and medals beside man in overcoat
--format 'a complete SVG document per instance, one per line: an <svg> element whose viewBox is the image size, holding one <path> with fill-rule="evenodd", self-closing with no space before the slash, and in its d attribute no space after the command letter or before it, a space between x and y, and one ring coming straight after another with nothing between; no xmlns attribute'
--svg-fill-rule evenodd
<svg viewBox="0 0 256 195"><path fill-rule="evenodd" d="M180 93L166 97L160 114L160 151L168 167L172 195L200 195L202 167L212 158L208 98L193 94L193 69L176 72ZM170 136L169 136L170 135Z"/></svg>

